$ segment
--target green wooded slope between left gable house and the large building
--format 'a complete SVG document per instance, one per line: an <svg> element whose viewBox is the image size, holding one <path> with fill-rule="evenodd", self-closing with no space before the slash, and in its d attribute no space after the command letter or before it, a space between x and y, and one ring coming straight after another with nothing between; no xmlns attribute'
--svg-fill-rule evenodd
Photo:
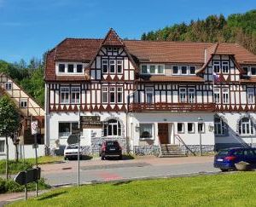
<svg viewBox="0 0 256 207"><path fill-rule="evenodd" d="M16 83L25 89L26 93L44 106L44 62L32 58L29 64L24 60L19 63L8 63L0 60L0 72L8 74Z"/></svg>

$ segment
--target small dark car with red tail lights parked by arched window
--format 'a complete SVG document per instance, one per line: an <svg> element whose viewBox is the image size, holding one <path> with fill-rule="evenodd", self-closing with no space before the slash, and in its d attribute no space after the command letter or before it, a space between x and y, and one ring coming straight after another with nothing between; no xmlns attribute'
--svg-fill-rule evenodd
<svg viewBox="0 0 256 207"><path fill-rule="evenodd" d="M105 158L119 158L122 159L122 147L118 141L103 141L100 145L100 157Z"/></svg>

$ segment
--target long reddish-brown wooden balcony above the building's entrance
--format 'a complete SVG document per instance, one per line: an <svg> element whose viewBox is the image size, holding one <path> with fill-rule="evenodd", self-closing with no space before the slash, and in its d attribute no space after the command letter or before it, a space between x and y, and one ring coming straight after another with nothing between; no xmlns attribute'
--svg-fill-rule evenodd
<svg viewBox="0 0 256 207"><path fill-rule="evenodd" d="M169 112L214 112L213 103L131 103L129 112L169 111Z"/></svg>

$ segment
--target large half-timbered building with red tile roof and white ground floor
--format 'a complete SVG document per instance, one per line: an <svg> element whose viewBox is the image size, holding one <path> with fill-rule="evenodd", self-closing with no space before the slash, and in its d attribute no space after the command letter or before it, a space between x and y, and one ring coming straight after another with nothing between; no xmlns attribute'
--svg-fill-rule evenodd
<svg viewBox="0 0 256 207"><path fill-rule="evenodd" d="M237 43L67 38L45 66L46 136L67 145L79 114L85 151L105 139L124 151L213 151L256 143L256 56ZM165 150L166 147L166 150Z"/></svg>

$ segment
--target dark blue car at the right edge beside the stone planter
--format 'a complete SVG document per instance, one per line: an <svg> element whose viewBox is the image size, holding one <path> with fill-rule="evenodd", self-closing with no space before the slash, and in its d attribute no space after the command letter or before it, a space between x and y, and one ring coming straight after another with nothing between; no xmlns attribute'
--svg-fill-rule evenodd
<svg viewBox="0 0 256 207"><path fill-rule="evenodd" d="M247 162L255 167L256 148L229 148L220 150L214 158L214 167L222 171L236 170L236 163Z"/></svg>

